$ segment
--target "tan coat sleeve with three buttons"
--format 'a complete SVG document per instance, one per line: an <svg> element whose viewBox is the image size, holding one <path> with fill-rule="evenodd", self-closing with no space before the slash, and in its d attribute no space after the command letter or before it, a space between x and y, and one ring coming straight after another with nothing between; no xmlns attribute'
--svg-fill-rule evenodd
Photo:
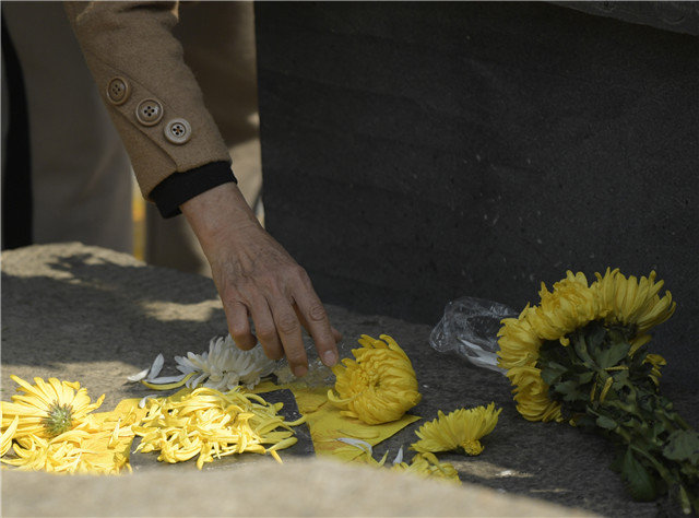
<svg viewBox="0 0 699 518"><path fill-rule="evenodd" d="M230 160L173 36L177 2L64 5L145 198L173 173Z"/></svg>

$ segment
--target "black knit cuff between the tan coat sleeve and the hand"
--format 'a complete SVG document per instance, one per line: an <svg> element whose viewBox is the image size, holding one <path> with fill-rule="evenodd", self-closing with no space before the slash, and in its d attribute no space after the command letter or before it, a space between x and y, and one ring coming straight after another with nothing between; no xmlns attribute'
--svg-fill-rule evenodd
<svg viewBox="0 0 699 518"><path fill-rule="evenodd" d="M151 191L163 217L181 214L179 205L228 181L238 183L227 162L212 162L185 173L173 173Z"/></svg>

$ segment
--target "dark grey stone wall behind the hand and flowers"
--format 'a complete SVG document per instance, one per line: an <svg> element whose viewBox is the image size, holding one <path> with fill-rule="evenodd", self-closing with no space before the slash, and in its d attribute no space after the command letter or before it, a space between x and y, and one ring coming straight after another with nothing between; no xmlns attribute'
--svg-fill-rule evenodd
<svg viewBox="0 0 699 518"><path fill-rule="evenodd" d="M321 298L436 323L655 269L678 302L659 351L696 381L696 37L547 3L256 16L266 226Z"/></svg>

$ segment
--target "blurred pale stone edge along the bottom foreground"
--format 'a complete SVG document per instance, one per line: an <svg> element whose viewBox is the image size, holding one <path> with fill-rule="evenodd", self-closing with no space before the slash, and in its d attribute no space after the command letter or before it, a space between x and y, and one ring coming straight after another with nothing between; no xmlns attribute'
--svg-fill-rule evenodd
<svg viewBox="0 0 699 518"><path fill-rule="evenodd" d="M12 473L2 491L3 516L590 516L328 461L120 479Z"/></svg>

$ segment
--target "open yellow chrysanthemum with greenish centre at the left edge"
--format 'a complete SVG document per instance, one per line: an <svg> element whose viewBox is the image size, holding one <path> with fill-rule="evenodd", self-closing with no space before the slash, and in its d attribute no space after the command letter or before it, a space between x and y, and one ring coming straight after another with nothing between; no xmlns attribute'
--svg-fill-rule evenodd
<svg viewBox="0 0 699 518"><path fill-rule="evenodd" d="M70 429L79 428L86 422L87 415L97 409L104 395L94 403L79 382L59 381L49 378L34 378L36 385L29 385L17 376L10 376L20 385L12 402L2 401L2 429L5 431L19 419L13 438L26 436L50 439Z"/></svg>

